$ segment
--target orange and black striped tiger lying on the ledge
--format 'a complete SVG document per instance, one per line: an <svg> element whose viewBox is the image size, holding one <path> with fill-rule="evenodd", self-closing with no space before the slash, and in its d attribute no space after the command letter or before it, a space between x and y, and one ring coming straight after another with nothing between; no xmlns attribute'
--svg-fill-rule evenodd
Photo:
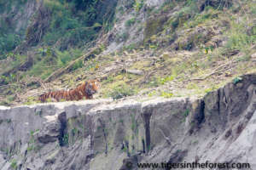
<svg viewBox="0 0 256 170"><path fill-rule="evenodd" d="M47 99L55 99L56 101L64 100L80 100L93 99L93 94L96 94L99 88L98 80L89 80L80 84L77 88L71 90L59 90L55 92L48 92L39 96L41 102L46 102Z"/></svg>

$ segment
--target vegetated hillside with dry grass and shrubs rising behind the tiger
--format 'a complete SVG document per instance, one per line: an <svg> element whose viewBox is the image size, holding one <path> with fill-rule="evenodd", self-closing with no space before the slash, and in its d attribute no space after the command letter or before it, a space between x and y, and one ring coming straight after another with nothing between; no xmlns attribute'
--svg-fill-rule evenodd
<svg viewBox="0 0 256 170"><path fill-rule="evenodd" d="M1 105L98 78L96 99L203 96L256 69L255 1L0 3ZM133 96L133 97L132 97Z"/></svg>

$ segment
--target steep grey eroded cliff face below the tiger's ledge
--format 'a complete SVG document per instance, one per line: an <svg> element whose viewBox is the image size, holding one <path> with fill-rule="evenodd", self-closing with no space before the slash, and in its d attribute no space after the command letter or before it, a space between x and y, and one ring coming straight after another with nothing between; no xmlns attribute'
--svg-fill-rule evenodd
<svg viewBox="0 0 256 170"><path fill-rule="evenodd" d="M1 107L0 169L125 170L137 162L184 161L248 162L256 169L255 123L255 75L203 99Z"/></svg>

